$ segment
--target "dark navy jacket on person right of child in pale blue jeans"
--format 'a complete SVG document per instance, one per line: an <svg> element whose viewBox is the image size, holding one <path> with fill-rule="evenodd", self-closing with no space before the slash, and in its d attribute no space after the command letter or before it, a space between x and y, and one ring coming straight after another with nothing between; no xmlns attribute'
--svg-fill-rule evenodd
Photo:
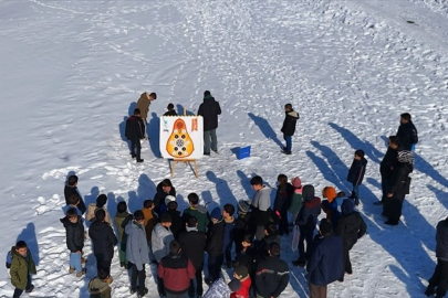
<svg viewBox="0 0 448 298"><path fill-rule="evenodd" d="M92 238L93 253L102 255L104 260L112 260L114 246L118 243L114 231L106 222L95 221L88 228L88 236Z"/></svg>

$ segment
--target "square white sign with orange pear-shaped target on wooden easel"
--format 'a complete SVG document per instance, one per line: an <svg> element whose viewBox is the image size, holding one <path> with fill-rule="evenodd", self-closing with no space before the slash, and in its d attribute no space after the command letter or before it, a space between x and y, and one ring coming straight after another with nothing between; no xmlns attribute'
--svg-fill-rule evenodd
<svg viewBox="0 0 448 298"><path fill-rule="evenodd" d="M159 149L167 159L200 159L204 156L202 116L160 117Z"/></svg>

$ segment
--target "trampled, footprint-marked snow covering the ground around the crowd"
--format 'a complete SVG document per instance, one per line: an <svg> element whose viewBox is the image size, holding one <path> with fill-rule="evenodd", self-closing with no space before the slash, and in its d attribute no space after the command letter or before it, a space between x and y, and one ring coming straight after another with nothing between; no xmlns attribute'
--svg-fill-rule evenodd
<svg viewBox="0 0 448 298"><path fill-rule="evenodd" d="M347 191L347 166L364 149L368 235L352 251L354 274L329 297L421 297L448 205L447 19L445 0L0 0L0 256L23 238L39 265L31 297L88 297L94 258L85 278L67 274L65 178L80 177L87 203L106 193L112 214L119 200L139 209L169 178L158 116L168 103L196 113L210 89L223 110L220 152L198 161L198 179L176 168L180 210L189 192L217 204L251 198L256 173L271 187L285 173L317 192ZM144 91L158 99L136 164L123 130ZM285 103L301 115L292 156L279 153ZM403 222L389 227L373 202L386 138L404 111L420 142ZM247 145L252 157L237 160L235 148ZM282 297L308 297L304 269L290 269ZM117 257L112 276L113 296L128 297ZM154 277L147 286L156 297ZM12 290L1 270L0 296Z"/></svg>

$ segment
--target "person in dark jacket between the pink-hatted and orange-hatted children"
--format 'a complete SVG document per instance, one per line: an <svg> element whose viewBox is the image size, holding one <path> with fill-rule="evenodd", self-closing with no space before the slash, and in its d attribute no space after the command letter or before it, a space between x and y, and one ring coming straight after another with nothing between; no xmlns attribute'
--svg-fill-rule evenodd
<svg viewBox="0 0 448 298"><path fill-rule="evenodd" d="M299 259L294 260L292 264L294 266L304 267L312 249L317 216L321 214L321 199L314 195L314 187L310 184L303 187L302 195L303 206L295 220L295 224L299 225L300 228ZM304 241L306 241L306 252Z"/></svg>

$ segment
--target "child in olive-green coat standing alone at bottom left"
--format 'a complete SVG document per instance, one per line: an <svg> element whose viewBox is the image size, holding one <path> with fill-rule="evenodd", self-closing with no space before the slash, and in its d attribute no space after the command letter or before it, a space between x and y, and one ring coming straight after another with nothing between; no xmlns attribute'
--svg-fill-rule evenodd
<svg viewBox="0 0 448 298"><path fill-rule="evenodd" d="M11 284L15 287L13 298L19 298L23 290L31 292L34 286L31 284L31 274L37 274L35 265L31 252L24 241L18 241L11 247Z"/></svg>

